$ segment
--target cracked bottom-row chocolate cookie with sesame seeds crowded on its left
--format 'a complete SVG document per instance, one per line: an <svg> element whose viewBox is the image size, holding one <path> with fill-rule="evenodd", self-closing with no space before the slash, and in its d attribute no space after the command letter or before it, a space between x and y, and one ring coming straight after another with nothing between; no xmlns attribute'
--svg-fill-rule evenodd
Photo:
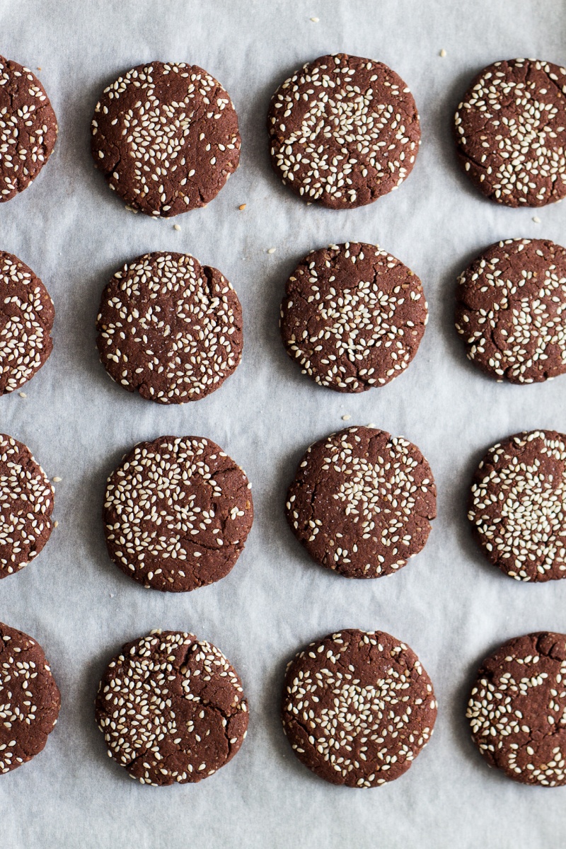
<svg viewBox="0 0 566 849"><path fill-rule="evenodd" d="M244 742L248 703L233 666L190 633L152 631L126 644L98 688L108 754L142 784L195 784Z"/></svg>

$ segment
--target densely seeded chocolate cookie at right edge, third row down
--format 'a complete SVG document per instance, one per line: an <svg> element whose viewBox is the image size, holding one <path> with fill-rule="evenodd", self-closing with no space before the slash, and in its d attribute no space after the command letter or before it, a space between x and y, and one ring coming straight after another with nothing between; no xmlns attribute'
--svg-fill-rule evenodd
<svg viewBox="0 0 566 849"><path fill-rule="evenodd" d="M566 436L531 430L490 448L468 503L486 557L518 581L566 577Z"/></svg>

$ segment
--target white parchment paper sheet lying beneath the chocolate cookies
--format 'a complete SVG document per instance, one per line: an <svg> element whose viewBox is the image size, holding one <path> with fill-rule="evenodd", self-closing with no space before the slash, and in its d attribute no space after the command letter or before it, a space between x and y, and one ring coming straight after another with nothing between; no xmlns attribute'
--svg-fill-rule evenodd
<svg viewBox="0 0 566 849"><path fill-rule="evenodd" d="M532 211L483 200L455 161L451 117L485 65L525 55L564 64L565 37L560 0L0 0L0 52L41 67L59 118L48 166L0 205L0 248L39 274L57 310L53 355L25 387L26 398L0 399L0 430L62 479L59 527L47 548L0 583L0 620L42 643L63 698L42 755L0 777L5 849L563 845L566 790L524 787L490 771L463 714L474 670L497 644L539 629L566 631L566 581L530 586L503 576L476 550L465 516L470 476L487 447L517 430L566 430L566 377L531 386L483 377L464 357L452 303L457 273L491 242L531 236L566 244L566 204ZM265 132L277 85L305 61L339 51L394 68L414 93L423 128L401 189L347 212L307 207L283 188ZM98 94L152 59L210 70L233 97L243 137L241 165L216 200L169 221L127 212L89 152ZM295 262L348 239L378 243L412 267L430 308L406 374L356 396L302 376L277 329ZM277 249L271 255L270 247ZM244 306L243 363L221 390L183 407L128 395L109 380L94 347L109 275L149 250L187 251L220 268ZM439 489L426 548L398 575L375 581L347 581L311 563L283 517L305 447L344 427L348 414L349 424L371 422L416 442ZM123 576L105 553L100 519L104 481L121 455L163 434L210 436L254 486L255 524L233 572L181 595ZM153 627L209 639L249 695L242 750L198 785L133 782L109 761L94 724L104 666L126 640ZM440 701L428 748L403 778L376 790L315 778L294 758L278 718L286 662L341 627L405 640Z"/></svg>

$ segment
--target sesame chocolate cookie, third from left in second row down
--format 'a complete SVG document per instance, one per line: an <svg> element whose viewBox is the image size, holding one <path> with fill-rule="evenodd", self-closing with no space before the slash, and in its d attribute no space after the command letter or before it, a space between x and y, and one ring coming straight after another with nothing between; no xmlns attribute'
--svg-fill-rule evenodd
<svg viewBox="0 0 566 849"><path fill-rule="evenodd" d="M408 366L429 318L416 274L376 245L313 250L287 281L281 335L303 374L338 392L383 386Z"/></svg>

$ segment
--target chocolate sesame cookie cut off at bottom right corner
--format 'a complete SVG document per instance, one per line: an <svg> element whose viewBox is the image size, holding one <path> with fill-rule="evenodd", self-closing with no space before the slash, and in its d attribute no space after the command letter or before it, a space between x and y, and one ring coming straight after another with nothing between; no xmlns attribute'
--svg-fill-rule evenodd
<svg viewBox="0 0 566 849"><path fill-rule="evenodd" d="M466 717L490 767L520 784L566 784L566 634L504 643L480 666Z"/></svg>

